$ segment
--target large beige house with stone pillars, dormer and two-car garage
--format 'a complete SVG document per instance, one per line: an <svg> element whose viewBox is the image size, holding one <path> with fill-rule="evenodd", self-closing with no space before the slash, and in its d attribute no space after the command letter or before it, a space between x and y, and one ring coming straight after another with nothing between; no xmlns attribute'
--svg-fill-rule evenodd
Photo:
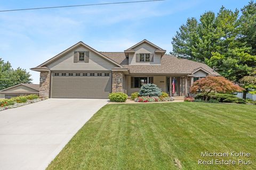
<svg viewBox="0 0 256 170"><path fill-rule="evenodd" d="M131 95L143 83L154 83L172 96L186 96L193 81L219 75L206 64L165 53L146 39L124 52L98 52L80 41L31 70L40 72L39 96L49 98Z"/></svg>

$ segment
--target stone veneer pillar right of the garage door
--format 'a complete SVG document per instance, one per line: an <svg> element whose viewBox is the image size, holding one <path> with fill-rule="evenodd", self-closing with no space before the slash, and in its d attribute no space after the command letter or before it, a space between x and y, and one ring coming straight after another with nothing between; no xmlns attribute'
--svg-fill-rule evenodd
<svg viewBox="0 0 256 170"><path fill-rule="evenodd" d="M119 81L118 81L119 80ZM112 73L112 92L123 92L123 73Z"/></svg>

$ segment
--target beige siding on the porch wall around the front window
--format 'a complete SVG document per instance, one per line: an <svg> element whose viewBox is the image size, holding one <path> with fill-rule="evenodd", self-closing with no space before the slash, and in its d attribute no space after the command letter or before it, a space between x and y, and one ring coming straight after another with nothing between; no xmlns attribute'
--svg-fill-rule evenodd
<svg viewBox="0 0 256 170"><path fill-rule="evenodd" d="M147 75L126 75L126 92L128 96L131 96L133 92L139 92L140 88L131 88L131 77L147 77ZM152 76L149 76L152 77ZM166 76L153 76L154 84L161 88L162 91L166 91ZM161 81L161 82L160 82Z"/></svg>

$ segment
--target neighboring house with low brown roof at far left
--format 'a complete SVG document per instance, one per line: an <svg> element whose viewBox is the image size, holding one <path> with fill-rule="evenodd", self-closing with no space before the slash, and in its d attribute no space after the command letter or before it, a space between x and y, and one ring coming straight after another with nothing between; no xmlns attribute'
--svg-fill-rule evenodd
<svg viewBox="0 0 256 170"><path fill-rule="evenodd" d="M10 99L17 96L39 94L39 84L17 84L0 91L0 98Z"/></svg>

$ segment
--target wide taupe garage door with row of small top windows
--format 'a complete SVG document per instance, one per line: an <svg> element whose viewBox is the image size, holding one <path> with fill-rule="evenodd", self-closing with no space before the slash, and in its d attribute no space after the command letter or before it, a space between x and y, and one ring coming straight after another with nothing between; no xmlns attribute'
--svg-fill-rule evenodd
<svg viewBox="0 0 256 170"><path fill-rule="evenodd" d="M52 98L108 98L109 72L52 72Z"/></svg>

